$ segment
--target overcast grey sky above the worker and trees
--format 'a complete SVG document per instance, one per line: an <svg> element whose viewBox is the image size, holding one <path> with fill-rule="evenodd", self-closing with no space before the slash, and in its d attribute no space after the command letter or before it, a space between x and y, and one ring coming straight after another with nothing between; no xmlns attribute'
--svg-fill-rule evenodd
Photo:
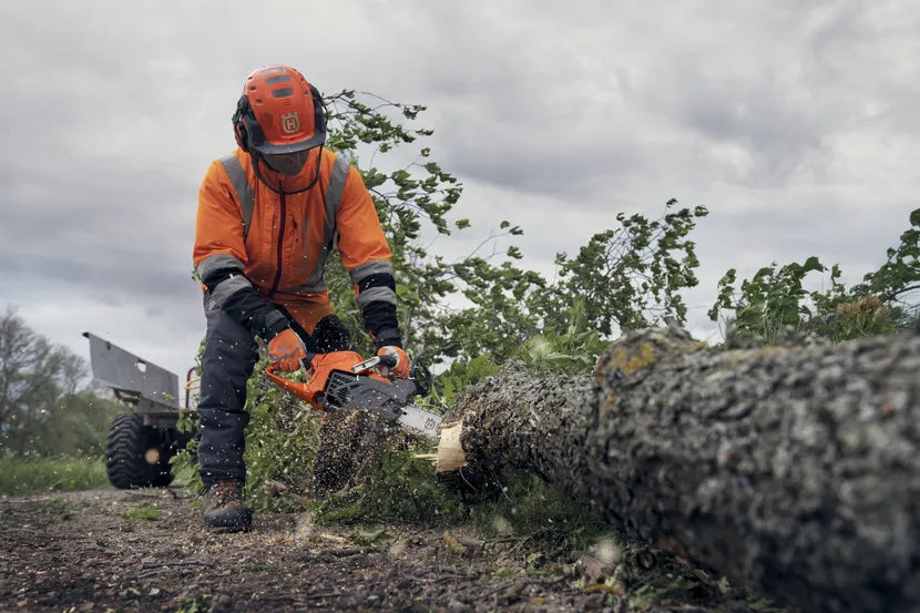
<svg viewBox="0 0 920 613"><path fill-rule="evenodd" d="M182 377L204 334L197 188L268 63L428 106L473 222L443 253L507 218L552 275L617 212L707 206L701 338L728 267L819 255L858 280L918 206L916 0L39 0L3 2L0 50L0 308Z"/></svg>

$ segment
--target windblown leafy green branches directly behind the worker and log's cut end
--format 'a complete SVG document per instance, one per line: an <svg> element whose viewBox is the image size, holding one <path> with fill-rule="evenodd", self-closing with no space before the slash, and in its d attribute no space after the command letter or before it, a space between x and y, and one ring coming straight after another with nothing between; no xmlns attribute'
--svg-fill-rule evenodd
<svg viewBox="0 0 920 613"><path fill-rule="evenodd" d="M596 339L663 316L684 321L679 292L696 285L698 265L688 235L706 215L704 207L675 210L672 200L658 219L616 216L617 227L596 234L575 258L558 254L554 284L520 267L522 253L513 244L499 248L523 234L510 221L497 219L470 254L447 262L432 253L437 237L469 232L470 223L451 215L462 185L431 160L429 147L418 145L431 131L409 127L425 108L350 90L326 102L329 146L364 176L393 251L399 320L410 354L429 364L466 364L482 355L495 361L571 355L575 348L569 333L593 329ZM327 280L341 318L369 347L354 288L339 263L330 265ZM535 337L542 338L529 343ZM584 338L583 348L590 340ZM541 350L546 343L559 344L560 350Z"/></svg>

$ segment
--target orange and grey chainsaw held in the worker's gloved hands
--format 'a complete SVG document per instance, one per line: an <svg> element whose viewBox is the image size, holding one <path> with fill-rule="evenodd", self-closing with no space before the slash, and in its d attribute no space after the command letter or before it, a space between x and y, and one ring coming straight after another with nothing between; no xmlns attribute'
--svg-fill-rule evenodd
<svg viewBox="0 0 920 613"><path fill-rule="evenodd" d="M396 360L393 355L365 359L355 351L308 354L300 360L308 376L306 382L282 377L274 365L265 374L285 391L324 412L372 412L388 426L399 425L437 441L443 418L412 403L416 396L428 395L427 370L413 365L408 379L390 380L386 375Z"/></svg>

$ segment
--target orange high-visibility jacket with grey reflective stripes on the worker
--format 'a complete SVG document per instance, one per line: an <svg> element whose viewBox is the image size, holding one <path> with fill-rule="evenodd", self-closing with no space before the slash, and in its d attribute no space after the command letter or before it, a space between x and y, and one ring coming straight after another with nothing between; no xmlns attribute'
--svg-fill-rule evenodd
<svg viewBox="0 0 920 613"><path fill-rule="evenodd" d="M296 191L313 181L319 154L314 150L296 177L264 164L259 172ZM263 184L252 157L239 149L208 167L198 192L194 263L202 278L217 269L238 270L213 289L218 305L249 286L272 302L325 298L326 257L336 239L356 286L371 275L392 276L392 254L374 202L344 157L321 150L316 185L294 194L277 194ZM379 286L359 293L362 310L372 302L396 305L396 294Z"/></svg>

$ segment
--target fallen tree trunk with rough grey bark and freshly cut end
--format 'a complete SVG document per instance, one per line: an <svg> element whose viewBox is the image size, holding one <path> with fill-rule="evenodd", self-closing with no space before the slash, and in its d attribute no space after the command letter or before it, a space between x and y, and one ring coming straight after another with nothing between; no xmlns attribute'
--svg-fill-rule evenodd
<svg viewBox="0 0 920 613"><path fill-rule="evenodd" d="M808 611L917 611L918 405L920 335L716 351L644 330L594 377L503 368L458 402L439 471L534 470Z"/></svg>

